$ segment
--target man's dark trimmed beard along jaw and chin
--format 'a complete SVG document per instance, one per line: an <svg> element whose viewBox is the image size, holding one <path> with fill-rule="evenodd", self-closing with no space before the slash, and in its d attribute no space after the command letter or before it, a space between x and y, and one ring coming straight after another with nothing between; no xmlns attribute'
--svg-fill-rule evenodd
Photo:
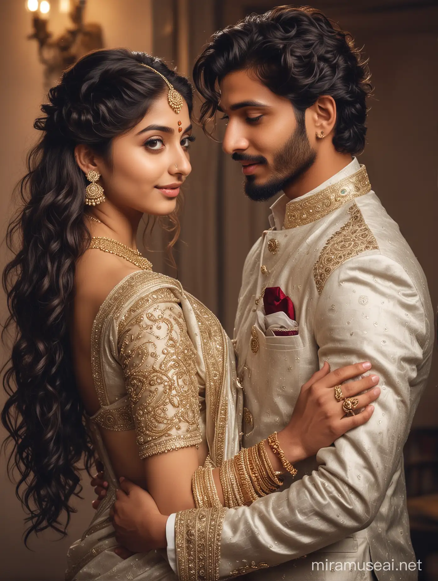
<svg viewBox="0 0 438 581"><path fill-rule="evenodd" d="M312 149L305 130L304 117L297 116L298 125L282 149L274 155L273 175L265 184L256 184L255 175L248 175L245 180L245 193L255 202L269 200L282 191L311 167L316 159L316 151ZM261 163L266 159L260 158ZM262 161L264 160L264 162Z"/></svg>

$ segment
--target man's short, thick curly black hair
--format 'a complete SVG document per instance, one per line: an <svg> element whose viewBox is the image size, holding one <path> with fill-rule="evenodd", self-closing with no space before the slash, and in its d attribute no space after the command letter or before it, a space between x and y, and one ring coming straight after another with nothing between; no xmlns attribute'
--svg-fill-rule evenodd
<svg viewBox="0 0 438 581"><path fill-rule="evenodd" d="M309 6L278 6L250 15L213 35L193 70L204 99L200 121L218 110L220 81L232 71L252 70L270 91L287 97L304 115L321 95L336 102L333 145L355 155L365 147L369 71L351 35L337 30L322 12Z"/></svg>

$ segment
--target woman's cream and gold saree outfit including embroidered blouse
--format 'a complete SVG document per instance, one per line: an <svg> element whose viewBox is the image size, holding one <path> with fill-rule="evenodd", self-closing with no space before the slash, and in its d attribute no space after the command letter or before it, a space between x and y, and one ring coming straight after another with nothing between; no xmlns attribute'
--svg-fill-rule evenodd
<svg viewBox="0 0 438 581"><path fill-rule="evenodd" d="M234 349L219 321L179 282L133 272L106 297L92 328L92 372L101 408L88 419L109 489L67 555L66 581L175 580L166 551L118 557L109 510L117 480L101 428L135 429L140 456L206 439L216 466L239 449L242 394ZM211 515L214 535L223 512Z"/></svg>

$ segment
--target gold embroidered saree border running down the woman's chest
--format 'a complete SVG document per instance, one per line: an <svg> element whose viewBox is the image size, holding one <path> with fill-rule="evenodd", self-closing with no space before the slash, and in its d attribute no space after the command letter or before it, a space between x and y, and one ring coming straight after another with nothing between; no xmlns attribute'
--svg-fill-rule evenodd
<svg viewBox="0 0 438 581"><path fill-rule="evenodd" d="M215 434L213 439L213 456L215 465L223 462L225 451L225 432L227 422L227 399L222 385L228 360L228 346L225 331L213 313L195 297L188 295L200 329L202 358L204 360L206 378L205 392L209 396L209 409L215 418Z"/></svg>

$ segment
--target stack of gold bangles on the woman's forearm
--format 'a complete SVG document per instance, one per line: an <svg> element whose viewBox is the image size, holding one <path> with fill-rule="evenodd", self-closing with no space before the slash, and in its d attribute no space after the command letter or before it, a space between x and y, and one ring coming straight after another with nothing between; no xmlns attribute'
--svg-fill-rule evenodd
<svg viewBox="0 0 438 581"><path fill-rule="evenodd" d="M277 432L268 437L268 444L273 453L280 458L284 469L295 476L297 471L284 456ZM243 448L234 458L223 462L219 468L225 506L237 508L275 492L283 484L279 475L280 472L275 472L269 461L265 440L251 448ZM211 465L197 469L193 475L192 489L197 508L221 506Z"/></svg>

